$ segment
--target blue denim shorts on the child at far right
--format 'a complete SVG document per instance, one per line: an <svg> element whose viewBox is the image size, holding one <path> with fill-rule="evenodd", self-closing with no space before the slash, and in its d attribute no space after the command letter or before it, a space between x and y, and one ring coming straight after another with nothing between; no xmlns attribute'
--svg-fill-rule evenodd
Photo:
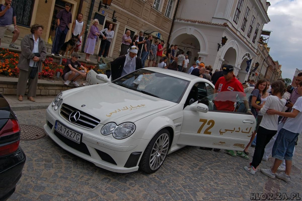
<svg viewBox="0 0 302 201"><path fill-rule="evenodd" d="M293 158L295 141L298 136L299 133L292 133L282 128L274 143L272 157L279 160L285 159L286 161L291 161Z"/></svg>

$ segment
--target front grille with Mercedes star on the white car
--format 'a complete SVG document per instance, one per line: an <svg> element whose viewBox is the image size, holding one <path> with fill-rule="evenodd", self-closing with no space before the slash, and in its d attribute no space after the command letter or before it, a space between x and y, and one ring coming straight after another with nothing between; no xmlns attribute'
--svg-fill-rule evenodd
<svg viewBox="0 0 302 201"><path fill-rule="evenodd" d="M69 116L72 112L74 111L79 111L78 109L67 105L65 103L62 104L61 109L60 109L60 114L62 117L64 117L66 120L69 121ZM80 112L80 118L76 122L71 122L76 125L82 126L84 128L88 129L93 129L97 124L100 123L100 120L94 118L93 116L85 113L85 112Z"/></svg>

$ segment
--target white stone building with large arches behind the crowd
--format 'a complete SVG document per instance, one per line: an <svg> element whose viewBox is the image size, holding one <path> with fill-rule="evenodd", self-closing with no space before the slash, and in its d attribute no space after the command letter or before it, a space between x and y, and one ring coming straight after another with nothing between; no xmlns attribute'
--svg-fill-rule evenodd
<svg viewBox="0 0 302 201"><path fill-rule="evenodd" d="M247 60L257 57L258 41L269 22L266 0L181 0L171 35L171 44L219 69L224 63L235 67L240 81L247 80ZM218 49L222 38L224 46Z"/></svg>

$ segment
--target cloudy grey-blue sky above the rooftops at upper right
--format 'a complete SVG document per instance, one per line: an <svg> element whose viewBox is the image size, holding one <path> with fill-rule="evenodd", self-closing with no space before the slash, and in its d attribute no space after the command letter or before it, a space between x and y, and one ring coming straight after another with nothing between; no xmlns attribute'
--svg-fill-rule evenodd
<svg viewBox="0 0 302 201"><path fill-rule="evenodd" d="M272 31L269 54L282 65L282 77L292 80L296 68L302 70L302 0L267 1L270 22L263 29Z"/></svg>

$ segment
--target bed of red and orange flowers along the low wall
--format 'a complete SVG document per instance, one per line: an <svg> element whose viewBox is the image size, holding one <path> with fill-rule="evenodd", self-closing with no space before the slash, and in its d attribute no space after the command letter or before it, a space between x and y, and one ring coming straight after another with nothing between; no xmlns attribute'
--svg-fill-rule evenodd
<svg viewBox="0 0 302 201"><path fill-rule="evenodd" d="M54 62L53 58L46 58L42 63L42 72L39 73L39 79L55 79L57 77L57 72L60 72L60 75L63 74L64 65L67 59L62 60L62 64ZM15 52L10 52L8 49L0 49L0 75L17 77L19 76L19 55ZM94 68L94 65L86 65L81 63L82 66L87 68L87 71ZM78 68L78 70L82 70Z"/></svg>

